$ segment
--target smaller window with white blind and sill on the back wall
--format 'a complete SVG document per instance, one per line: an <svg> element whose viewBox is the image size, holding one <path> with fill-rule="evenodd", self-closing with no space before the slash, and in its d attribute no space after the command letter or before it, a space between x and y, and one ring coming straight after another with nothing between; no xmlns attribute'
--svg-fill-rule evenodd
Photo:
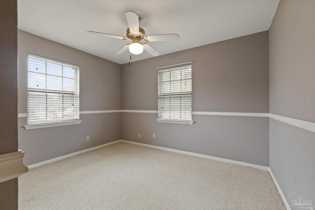
<svg viewBox="0 0 315 210"><path fill-rule="evenodd" d="M191 62L158 68L157 121L193 124Z"/></svg>

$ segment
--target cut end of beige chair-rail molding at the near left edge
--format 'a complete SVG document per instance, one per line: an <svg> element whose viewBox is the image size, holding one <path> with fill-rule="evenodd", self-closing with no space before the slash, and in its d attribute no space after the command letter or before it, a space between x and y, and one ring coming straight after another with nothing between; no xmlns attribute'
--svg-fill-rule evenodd
<svg viewBox="0 0 315 210"><path fill-rule="evenodd" d="M0 182L15 179L29 171L23 157L21 150L0 154Z"/></svg>

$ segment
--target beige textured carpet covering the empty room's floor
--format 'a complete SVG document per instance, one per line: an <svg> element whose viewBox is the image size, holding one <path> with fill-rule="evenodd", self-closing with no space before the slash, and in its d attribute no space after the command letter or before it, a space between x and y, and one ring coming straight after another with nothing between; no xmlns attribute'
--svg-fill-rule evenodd
<svg viewBox="0 0 315 210"><path fill-rule="evenodd" d="M20 210L285 210L266 171L118 143L31 169Z"/></svg>

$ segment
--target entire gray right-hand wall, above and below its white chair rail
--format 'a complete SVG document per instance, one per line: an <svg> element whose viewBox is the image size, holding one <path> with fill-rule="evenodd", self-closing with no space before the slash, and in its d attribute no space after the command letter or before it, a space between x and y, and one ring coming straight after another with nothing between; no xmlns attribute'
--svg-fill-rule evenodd
<svg viewBox="0 0 315 210"><path fill-rule="evenodd" d="M281 0L269 31L270 113L315 122L315 1ZM270 120L270 168L284 196L315 201L315 133Z"/></svg>

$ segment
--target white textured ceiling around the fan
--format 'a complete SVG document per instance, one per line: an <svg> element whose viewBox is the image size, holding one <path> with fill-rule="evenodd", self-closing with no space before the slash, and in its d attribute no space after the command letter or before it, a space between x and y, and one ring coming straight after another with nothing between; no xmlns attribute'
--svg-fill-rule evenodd
<svg viewBox="0 0 315 210"><path fill-rule="evenodd" d="M134 11L146 35L177 33L180 39L151 42L160 55L269 30L280 0L18 0L18 29L123 64L115 53L130 40L126 11ZM147 52L131 61L151 58Z"/></svg>

